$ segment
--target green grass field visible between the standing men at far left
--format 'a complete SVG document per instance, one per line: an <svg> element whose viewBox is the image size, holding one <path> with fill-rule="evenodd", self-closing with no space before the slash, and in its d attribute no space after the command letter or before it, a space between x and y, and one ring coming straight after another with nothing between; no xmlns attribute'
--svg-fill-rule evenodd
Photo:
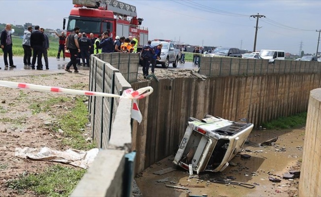
<svg viewBox="0 0 321 197"><path fill-rule="evenodd" d="M24 56L24 49L22 48L22 38L12 36L12 44L13 56ZM57 57L58 48L58 40L49 40L48 57ZM3 55L2 50L0 50L0 55Z"/></svg>

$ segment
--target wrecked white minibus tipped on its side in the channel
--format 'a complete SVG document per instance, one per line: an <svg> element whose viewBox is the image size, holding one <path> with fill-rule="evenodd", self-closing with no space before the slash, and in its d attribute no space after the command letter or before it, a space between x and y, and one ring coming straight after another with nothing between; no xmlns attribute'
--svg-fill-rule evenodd
<svg viewBox="0 0 321 197"><path fill-rule="evenodd" d="M248 119L241 120L233 122L211 115L201 121L190 118L173 163L186 170L192 168L197 174L222 172L253 129Z"/></svg>

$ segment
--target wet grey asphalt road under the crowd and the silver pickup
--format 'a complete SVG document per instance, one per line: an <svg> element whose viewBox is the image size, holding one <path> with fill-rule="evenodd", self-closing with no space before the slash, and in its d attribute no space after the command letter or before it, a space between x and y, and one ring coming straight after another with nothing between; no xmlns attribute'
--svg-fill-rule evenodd
<svg viewBox="0 0 321 197"><path fill-rule="evenodd" d="M66 58L65 61L63 61L63 59L61 58L60 60L57 60L56 58L52 58L49 57L48 58L48 62L49 62L49 70L64 70L65 66L68 64L68 62L70 61L69 58ZM0 58L0 71L18 71L18 70L29 70L31 69L30 66L24 66L24 62L23 62L23 57L20 56L14 56L13 57L13 64L16 65L16 68L12 68L12 67L4 67L4 63L3 63L3 57L1 56ZM42 58L42 64L44 65L44 60ZM172 64L170 64L168 66L169 69L194 69L196 68L196 66L192 65L192 62L186 62L185 64L178 64L178 66L176 68L174 68L172 66ZM71 66L70 69L73 69L73 67ZM78 66L79 70L88 70L88 67L83 67L83 66ZM141 70L142 67L139 66L139 70ZM158 65L156 67L156 69L163 69L160 65Z"/></svg>

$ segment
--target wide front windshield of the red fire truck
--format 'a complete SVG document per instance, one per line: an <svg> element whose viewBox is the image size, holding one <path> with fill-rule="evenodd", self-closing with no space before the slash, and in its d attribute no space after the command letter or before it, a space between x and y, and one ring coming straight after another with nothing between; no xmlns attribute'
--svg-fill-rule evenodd
<svg viewBox="0 0 321 197"><path fill-rule="evenodd" d="M100 33L100 23L98 21L85 21L78 19L70 19L68 22L68 31L73 31L75 27L80 28L80 32Z"/></svg>

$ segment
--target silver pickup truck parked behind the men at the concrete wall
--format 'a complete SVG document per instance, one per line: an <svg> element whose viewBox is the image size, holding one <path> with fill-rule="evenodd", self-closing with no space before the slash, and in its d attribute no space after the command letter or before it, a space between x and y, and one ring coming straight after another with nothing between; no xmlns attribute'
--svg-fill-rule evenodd
<svg viewBox="0 0 321 197"><path fill-rule="evenodd" d="M172 42L167 41L152 41L152 46L162 44L160 60L156 61L157 65L161 65L163 68L167 68L170 63L173 67L177 67L180 56L180 50L175 48Z"/></svg>

